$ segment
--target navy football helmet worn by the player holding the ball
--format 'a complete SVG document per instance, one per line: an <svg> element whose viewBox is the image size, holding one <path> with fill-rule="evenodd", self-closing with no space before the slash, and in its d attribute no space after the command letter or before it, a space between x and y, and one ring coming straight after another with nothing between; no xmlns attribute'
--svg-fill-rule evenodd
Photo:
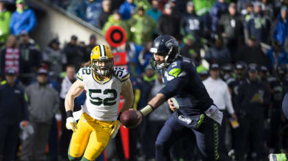
<svg viewBox="0 0 288 161"><path fill-rule="evenodd" d="M170 63L175 61L179 55L178 42L171 35L159 35L153 42L152 48L150 48L150 53L154 55L152 57L150 64L154 70L161 70L167 67ZM164 56L164 62L158 65L155 61L155 55Z"/></svg>

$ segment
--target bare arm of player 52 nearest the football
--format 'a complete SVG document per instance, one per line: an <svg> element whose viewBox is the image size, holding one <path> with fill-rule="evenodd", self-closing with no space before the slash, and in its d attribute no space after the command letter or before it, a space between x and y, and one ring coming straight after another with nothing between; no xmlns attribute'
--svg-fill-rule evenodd
<svg viewBox="0 0 288 161"><path fill-rule="evenodd" d="M124 111L132 107L134 101L133 88L130 79L128 79L121 85L121 95L125 99L120 111L121 113L123 113Z"/></svg>

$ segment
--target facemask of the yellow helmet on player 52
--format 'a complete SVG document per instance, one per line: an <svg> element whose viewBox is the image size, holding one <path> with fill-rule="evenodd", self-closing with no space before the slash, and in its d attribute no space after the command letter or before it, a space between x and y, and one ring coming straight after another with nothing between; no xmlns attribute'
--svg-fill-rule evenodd
<svg viewBox="0 0 288 161"><path fill-rule="evenodd" d="M101 66L100 63L108 64ZM113 58L108 59L107 57L99 58L99 59L92 59L91 64L93 68L93 72L97 76L110 76L113 71Z"/></svg>

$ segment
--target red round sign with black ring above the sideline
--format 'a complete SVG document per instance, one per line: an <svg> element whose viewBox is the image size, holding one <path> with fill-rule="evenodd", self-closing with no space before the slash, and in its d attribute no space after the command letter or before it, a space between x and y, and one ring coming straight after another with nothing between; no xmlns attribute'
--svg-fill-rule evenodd
<svg viewBox="0 0 288 161"><path fill-rule="evenodd" d="M106 31L105 38L110 46L118 47L126 41L126 32L120 26L112 26Z"/></svg>

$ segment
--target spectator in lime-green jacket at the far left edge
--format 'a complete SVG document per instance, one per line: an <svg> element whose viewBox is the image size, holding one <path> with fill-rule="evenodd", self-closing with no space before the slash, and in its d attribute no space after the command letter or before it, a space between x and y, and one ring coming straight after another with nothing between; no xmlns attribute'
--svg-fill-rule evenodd
<svg viewBox="0 0 288 161"><path fill-rule="evenodd" d="M5 9L5 4L0 1L0 48L4 44L5 40L8 38L10 33L9 23L10 23L11 13Z"/></svg>

